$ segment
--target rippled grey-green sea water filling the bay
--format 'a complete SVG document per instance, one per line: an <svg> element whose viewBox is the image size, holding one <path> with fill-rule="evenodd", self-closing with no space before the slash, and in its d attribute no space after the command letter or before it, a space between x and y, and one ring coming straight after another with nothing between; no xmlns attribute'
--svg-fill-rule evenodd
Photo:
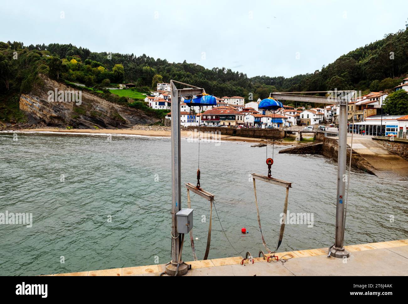
<svg viewBox="0 0 408 304"><path fill-rule="evenodd" d="M278 154L283 148L275 146L273 176L293 182L288 209L313 213L313 227L286 225L279 251L329 246L335 232L337 164L322 156ZM197 143L183 140L183 183L196 182L197 149ZM242 254L263 249L249 173L266 175L265 159L265 148L245 142L202 142L200 147L201 185L215 195L225 233ZM407 182L353 171L345 244L408 238L407 189ZM272 248L285 189L259 181L257 193L264 236ZM202 259L209 204L197 195L191 198L196 251ZM170 210L169 139L112 136L109 142L100 135L19 133L13 141L13 134L0 133L0 213L33 213L31 228L0 225L0 275L149 265L157 257L164 264L170 260ZM239 255L215 210L212 226L210 258ZM242 235L242 227L249 234ZM193 260L188 238L183 256Z"/></svg>

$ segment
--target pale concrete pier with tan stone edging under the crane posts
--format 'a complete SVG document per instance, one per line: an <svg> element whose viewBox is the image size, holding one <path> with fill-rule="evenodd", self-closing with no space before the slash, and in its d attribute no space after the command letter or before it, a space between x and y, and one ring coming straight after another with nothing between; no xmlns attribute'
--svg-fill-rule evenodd
<svg viewBox="0 0 408 304"><path fill-rule="evenodd" d="M187 245L187 244L185 244ZM186 262L191 270L186 276L298 276L298 275L407 275L408 240L345 246L350 257L327 258L328 248L277 253L286 262L267 262L255 257L254 263L242 257L227 257L205 261ZM186 246L186 249L188 247ZM187 256L188 253L186 252ZM286 256L285 256L286 255ZM293 258L290 258L290 256ZM290 259L289 259L290 258ZM158 276L165 265L115 268L98 271L55 274L53 276Z"/></svg>

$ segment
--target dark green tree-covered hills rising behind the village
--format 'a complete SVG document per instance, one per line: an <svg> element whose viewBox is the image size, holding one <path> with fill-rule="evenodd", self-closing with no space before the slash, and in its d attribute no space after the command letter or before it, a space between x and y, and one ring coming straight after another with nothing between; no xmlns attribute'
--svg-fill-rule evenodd
<svg viewBox="0 0 408 304"><path fill-rule="evenodd" d="M339 43L346 43L339 41ZM14 51L24 60L13 60ZM80 82L87 87L133 82L137 87L154 87L171 79L204 87L216 96L240 95L266 98L271 91L327 91L357 89L387 91L408 73L408 26L382 40L342 55L335 62L313 73L282 76L256 76L231 69L206 69L195 63L170 63L147 55L95 53L72 44L24 46L22 42L0 42L0 96L27 91L36 73L52 79ZM144 88L146 89L146 88ZM3 98L2 98L3 99ZM2 101L2 100L1 100Z"/></svg>

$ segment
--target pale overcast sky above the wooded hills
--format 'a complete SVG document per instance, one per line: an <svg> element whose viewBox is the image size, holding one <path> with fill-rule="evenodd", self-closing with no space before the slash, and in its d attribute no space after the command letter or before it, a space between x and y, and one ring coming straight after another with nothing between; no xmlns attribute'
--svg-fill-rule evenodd
<svg viewBox="0 0 408 304"><path fill-rule="evenodd" d="M71 43L255 75L313 73L405 29L406 1L7 1L0 41ZM64 18L62 18L64 17Z"/></svg>

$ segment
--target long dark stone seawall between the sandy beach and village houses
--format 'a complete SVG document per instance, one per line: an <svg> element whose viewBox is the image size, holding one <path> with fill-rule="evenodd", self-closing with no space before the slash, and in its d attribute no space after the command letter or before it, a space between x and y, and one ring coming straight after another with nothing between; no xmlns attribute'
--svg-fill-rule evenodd
<svg viewBox="0 0 408 304"><path fill-rule="evenodd" d="M232 127L211 127L211 126L188 126L184 131L200 132L221 132L221 135L261 138L261 139L275 139L281 140L285 138L285 131L277 129L255 129L255 128L232 128Z"/></svg>

